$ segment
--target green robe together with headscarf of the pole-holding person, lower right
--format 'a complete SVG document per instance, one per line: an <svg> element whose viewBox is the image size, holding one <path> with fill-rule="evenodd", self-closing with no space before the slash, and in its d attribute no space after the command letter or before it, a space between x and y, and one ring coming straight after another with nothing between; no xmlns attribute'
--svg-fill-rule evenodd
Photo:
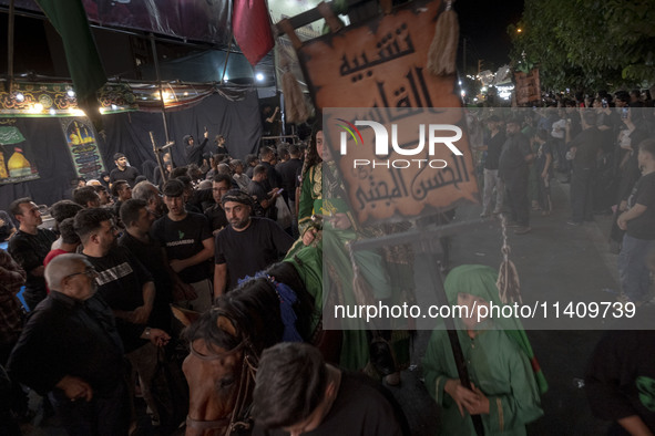
<svg viewBox="0 0 655 436"><path fill-rule="evenodd" d="M495 281L498 272L484 266L454 268L446 278L448 301L457 304L460 292L502 305ZM547 388L545 377L533 371L530 341L518 319L487 320L471 339L461 322L458 338L471 382L490 402L489 415L482 415L485 435L524 435L525 424L541 415L540 392ZM474 435L472 421L460 415L454 401L443 391L449 378L459 378L448 332L434 330L423 359L426 386L442 407L444 435Z"/></svg>

